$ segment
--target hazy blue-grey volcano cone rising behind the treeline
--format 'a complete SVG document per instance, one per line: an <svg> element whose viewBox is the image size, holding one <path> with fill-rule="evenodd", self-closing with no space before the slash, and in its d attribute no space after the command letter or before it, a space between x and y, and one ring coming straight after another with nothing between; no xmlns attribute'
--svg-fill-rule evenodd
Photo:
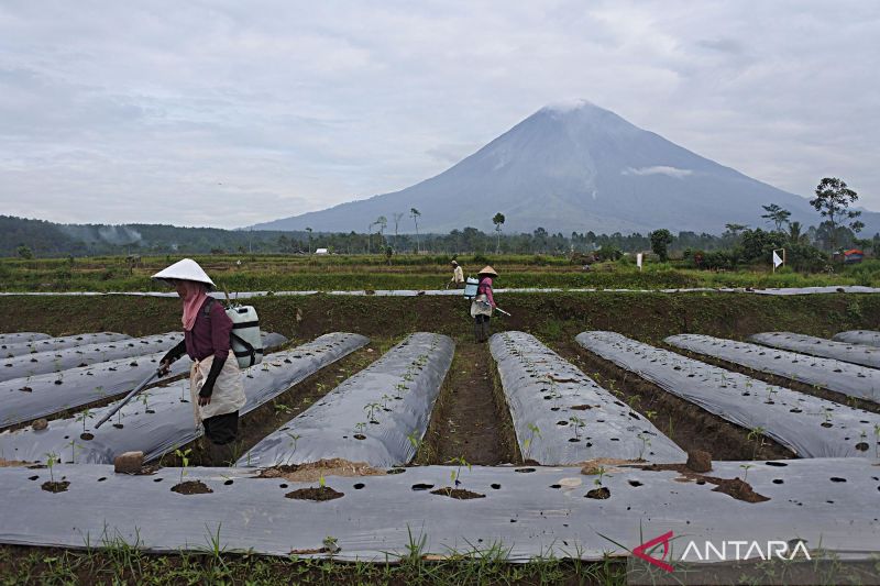
<svg viewBox="0 0 880 586"><path fill-rule="evenodd" d="M506 232L543 226L586 232L721 233L726 223L761 225L761 206L778 203L792 220L817 224L805 198L641 130L588 102L547 107L440 175L400 191L276 220L260 230L363 231L378 215L417 208L426 232L472 225ZM866 233L880 214L866 212ZM411 232L411 221L405 224Z"/></svg>

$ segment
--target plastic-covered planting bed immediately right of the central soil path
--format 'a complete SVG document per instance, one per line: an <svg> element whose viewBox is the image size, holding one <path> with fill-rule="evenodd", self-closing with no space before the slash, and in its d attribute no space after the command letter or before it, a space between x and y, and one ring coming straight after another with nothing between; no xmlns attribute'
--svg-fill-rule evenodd
<svg viewBox="0 0 880 586"><path fill-rule="evenodd" d="M497 333L490 347L526 461L565 465L593 458L688 458L648 419L534 335Z"/></svg>

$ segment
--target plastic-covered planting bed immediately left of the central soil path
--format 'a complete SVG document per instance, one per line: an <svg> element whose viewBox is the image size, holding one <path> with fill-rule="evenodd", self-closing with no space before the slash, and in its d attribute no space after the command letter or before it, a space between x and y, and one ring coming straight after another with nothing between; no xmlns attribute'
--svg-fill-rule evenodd
<svg viewBox="0 0 880 586"><path fill-rule="evenodd" d="M239 466L343 458L406 464L425 435L455 344L418 332L266 436Z"/></svg>

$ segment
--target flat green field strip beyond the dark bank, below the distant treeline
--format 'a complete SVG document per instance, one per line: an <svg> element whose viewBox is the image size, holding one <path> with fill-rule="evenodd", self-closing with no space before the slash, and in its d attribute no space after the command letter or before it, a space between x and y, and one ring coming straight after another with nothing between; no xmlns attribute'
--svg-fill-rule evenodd
<svg viewBox="0 0 880 586"><path fill-rule="evenodd" d="M221 289L234 291L441 289L451 270L447 254L399 255L209 255L194 257ZM835 267L836 274L799 274L789 268L730 272L695 270L681 261L647 262L638 270L634 256L595 263L551 255L459 255L465 276L491 264L498 287L635 288L880 286L880 262ZM169 256L88 258L0 258L2 291L147 291L166 290L150 275L173 262Z"/></svg>

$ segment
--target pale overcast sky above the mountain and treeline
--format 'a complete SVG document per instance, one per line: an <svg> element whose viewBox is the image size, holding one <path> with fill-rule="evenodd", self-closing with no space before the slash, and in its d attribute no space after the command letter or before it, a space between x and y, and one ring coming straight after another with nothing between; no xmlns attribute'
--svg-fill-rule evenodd
<svg viewBox="0 0 880 586"><path fill-rule="evenodd" d="M878 40L872 0L0 0L0 214L248 225L407 187L573 98L880 210Z"/></svg>

